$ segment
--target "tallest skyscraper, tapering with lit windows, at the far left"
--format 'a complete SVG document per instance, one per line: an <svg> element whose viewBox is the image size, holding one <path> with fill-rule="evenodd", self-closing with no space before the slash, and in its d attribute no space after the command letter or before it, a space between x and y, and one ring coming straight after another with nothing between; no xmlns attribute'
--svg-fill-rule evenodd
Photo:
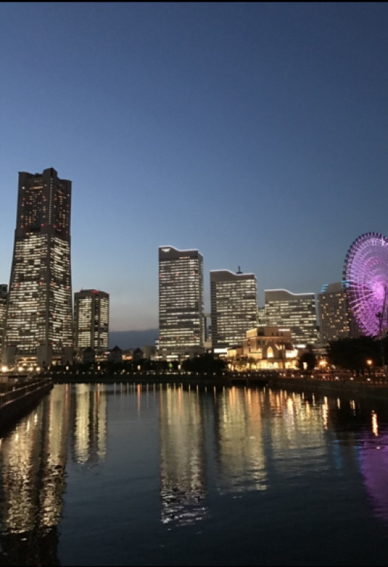
<svg viewBox="0 0 388 567"><path fill-rule="evenodd" d="M5 364L72 361L71 192L52 167L19 173Z"/></svg>

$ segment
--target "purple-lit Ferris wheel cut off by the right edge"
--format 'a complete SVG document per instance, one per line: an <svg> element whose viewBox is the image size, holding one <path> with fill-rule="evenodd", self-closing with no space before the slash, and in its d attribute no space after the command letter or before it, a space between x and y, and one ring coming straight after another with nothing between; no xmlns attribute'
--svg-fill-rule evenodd
<svg viewBox="0 0 388 567"><path fill-rule="evenodd" d="M361 332L375 337L388 327L388 239L377 232L359 236L343 270L350 310Z"/></svg>

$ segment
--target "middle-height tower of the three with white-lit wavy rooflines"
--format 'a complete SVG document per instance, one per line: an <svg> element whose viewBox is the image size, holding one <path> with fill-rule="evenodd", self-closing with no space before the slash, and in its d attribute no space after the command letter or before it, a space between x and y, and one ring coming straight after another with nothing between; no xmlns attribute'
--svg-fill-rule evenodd
<svg viewBox="0 0 388 567"><path fill-rule="evenodd" d="M210 272L211 346L214 352L242 346L246 332L257 325L257 283L254 274L229 270Z"/></svg>

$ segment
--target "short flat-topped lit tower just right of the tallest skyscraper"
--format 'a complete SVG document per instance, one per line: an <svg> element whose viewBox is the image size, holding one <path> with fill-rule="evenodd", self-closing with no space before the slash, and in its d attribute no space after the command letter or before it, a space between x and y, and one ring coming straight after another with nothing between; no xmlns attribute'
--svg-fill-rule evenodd
<svg viewBox="0 0 388 567"><path fill-rule="evenodd" d="M109 293L83 289L74 293L74 349L92 348L96 358L108 350Z"/></svg>

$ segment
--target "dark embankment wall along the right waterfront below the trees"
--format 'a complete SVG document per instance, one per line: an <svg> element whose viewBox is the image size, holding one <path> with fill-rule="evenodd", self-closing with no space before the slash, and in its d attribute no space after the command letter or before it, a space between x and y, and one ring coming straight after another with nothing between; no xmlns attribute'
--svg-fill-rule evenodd
<svg viewBox="0 0 388 567"><path fill-rule="evenodd" d="M314 378L270 378L270 388L287 391L321 393L322 395L346 395L352 398L370 398L388 403L388 384L360 383L350 380L319 380Z"/></svg>

